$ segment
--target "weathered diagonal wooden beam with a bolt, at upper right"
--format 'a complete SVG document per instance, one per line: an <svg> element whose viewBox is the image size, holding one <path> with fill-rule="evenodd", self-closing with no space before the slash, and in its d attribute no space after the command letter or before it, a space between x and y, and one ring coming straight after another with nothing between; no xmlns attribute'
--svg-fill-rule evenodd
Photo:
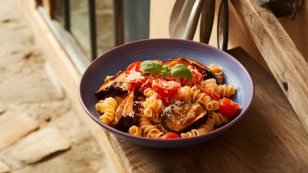
<svg viewBox="0 0 308 173"><path fill-rule="evenodd" d="M231 0L264 60L308 132L308 64L267 5ZM288 90L283 86L287 81Z"/></svg>

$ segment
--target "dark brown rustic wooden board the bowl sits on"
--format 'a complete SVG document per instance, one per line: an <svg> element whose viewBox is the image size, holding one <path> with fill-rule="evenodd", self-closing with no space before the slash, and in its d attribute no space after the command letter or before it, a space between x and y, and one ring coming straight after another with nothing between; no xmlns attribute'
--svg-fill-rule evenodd
<svg viewBox="0 0 308 173"><path fill-rule="evenodd" d="M224 134L178 149L139 146L106 131L126 172L308 172L308 133L275 78L242 48L228 52L255 84L247 114Z"/></svg>

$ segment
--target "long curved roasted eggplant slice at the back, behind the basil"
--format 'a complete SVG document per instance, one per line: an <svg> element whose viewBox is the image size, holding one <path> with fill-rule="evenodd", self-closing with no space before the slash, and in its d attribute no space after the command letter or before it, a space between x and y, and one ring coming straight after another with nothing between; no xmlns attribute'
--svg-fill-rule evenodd
<svg viewBox="0 0 308 173"><path fill-rule="evenodd" d="M185 66L192 65L198 70L199 73L202 74L204 80L214 78L216 80L216 84L217 85L220 84L218 77L215 75L215 73L211 69L209 69L208 67L206 67L203 64L198 63L195 60L178 57L178 58L170 59L167 62L165 62L164 64L169 65L169 66L173 66L175 64L184 64Z"/></svg>

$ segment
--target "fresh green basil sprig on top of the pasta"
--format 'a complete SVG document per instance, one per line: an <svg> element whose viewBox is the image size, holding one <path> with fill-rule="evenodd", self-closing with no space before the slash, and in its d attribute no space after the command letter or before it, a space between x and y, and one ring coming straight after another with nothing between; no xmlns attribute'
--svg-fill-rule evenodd
<svg viewBox="0 0 308 173"><path fill-rule="evenodd" d="M193 74L184 64L175 64L170 71L168 71L168 65L162 65L158 61L143 61L140 64L140 71L144 73L158 74L161 76L173 76L186 79L193 79Z"/></svg>

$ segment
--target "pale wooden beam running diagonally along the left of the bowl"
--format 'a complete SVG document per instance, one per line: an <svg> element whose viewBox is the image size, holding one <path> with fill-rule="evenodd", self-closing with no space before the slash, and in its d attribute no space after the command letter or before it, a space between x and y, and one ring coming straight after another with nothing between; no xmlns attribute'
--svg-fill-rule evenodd
<svg viewBox="0 0 308 173"><path fill-rule="evenodd" d="M78 85L81 76L40 13L36 10L34 0L15 0L15 4L22 12L34 37L39 41L44 54L55 69L63 89L72 102L73 108L77 109L77 112L80 114L78 116L84 118L86 125L97 139L108 161L113 164L115 170L119 173L124 172L103 129L83 110L78 97Z"/></svg>

